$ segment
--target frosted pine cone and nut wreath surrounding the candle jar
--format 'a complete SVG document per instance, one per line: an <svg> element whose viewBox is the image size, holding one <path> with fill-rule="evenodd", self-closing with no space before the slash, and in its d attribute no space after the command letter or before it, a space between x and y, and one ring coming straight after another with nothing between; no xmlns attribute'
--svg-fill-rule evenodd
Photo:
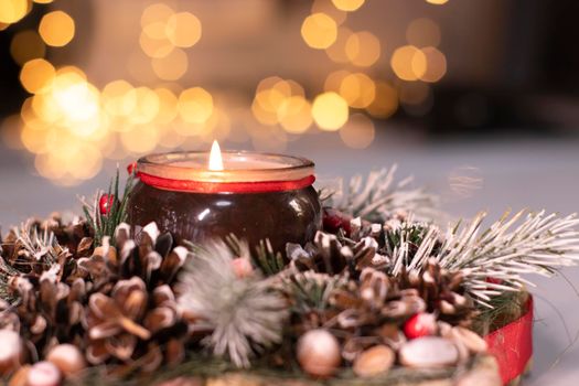
<svg viewBox="0 0 579 386"><path fill-rule="evenodd" d="M530 329L523 275L575 264L579 219L519 212L484 228L480 214L441 227L436 197L396 183L394 170L321 192L324 229L283 253L267 239L176 245L154 223L132 227L132 178L121 191L117 173L83 217L30 219L1 239L2 376L29 386L513 379L519 372L498 373L492 353L519 341L482 336Z"/></svg>

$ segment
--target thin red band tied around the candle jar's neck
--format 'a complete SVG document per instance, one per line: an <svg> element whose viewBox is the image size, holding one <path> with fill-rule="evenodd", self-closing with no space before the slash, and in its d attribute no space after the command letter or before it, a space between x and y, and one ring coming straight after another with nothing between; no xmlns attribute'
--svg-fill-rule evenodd
<svg viewBox="0 0 579 386"><path fill-rule="evenodd" d="M173 180L137 172L137 176L146 184L179 192L192 193L267 193L294 191L313 184L315 176L308 175L296 181L259 181L259 182L205 182L191 180Z"/></svg>

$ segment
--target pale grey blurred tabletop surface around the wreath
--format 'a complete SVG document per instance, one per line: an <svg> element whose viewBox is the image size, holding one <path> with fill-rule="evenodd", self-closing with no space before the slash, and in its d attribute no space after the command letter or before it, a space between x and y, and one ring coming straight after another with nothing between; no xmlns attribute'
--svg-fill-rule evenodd
<svg viewBox="0 0 579 386"><path fill-rule="evenodd" d="M405 130L404 127L396 128ZM487 210L496 218L505 208L546 208L568 214L579 212L579 140L502 140L470 143L422 144L406 135L384 131L369 149L349 150L337 136L320 135L292 142L287 152L315 160L318 175L332 178L399 164L399 176L414 174L442 194L443 208L469 217ZM51 211L79 213L78 194L90 195L106 187L114 174L109 165L89 183L62 189L34 175L32 161L0 148L0 223L6 227L29 215ZM454 192L457 176L467 175L473 189ZM579 268L562 270L579 288ZM561 277L533 277L538 285L534 329L535 360L526 385L576 385L579 376L579 293Z"/></svg>

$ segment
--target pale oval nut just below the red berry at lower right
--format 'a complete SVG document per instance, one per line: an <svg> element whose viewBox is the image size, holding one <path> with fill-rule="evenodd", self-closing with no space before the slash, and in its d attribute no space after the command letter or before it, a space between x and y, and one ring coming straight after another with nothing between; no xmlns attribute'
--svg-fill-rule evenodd
<svg viewBox="0 0 579 386"><path fill-rule="evenodd" d="M400 363L410 367L438 368L459 361L459 351L452 341L439 336L423 336L408 341L398 352Z"/></svg>

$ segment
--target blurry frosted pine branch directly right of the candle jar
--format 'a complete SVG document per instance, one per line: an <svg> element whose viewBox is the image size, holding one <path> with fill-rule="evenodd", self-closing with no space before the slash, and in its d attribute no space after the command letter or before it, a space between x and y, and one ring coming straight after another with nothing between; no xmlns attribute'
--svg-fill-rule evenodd
<svg viewBox="0 0 579 386"><path fill-rule="evenodd" d="M411 176L396 181L397 168L394 164L372 171L366 179L354 175L347 186L340 180L339 189L332 192L331 206L371 222L384 222L399 213L414 213L417 219L439 217L438 196L423 187L410 187Z"/></svg>

